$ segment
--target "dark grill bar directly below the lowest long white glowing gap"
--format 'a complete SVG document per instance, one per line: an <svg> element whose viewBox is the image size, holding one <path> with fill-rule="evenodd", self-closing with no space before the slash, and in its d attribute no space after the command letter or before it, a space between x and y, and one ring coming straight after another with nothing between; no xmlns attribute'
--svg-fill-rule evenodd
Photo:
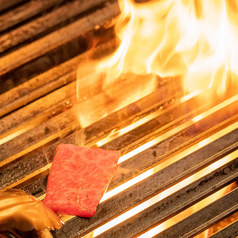
<svg viewBox="0 0 238 238"><path fill-rule="evenodd" d="M206 153L202 152L202 154L206 156ZM174 171L173 168L170 169L171 171ZM229 173L227 171L229 171ZM164 173L166 173L166 171ZM173 176L173 174L171 176ZM166 176L166 178L167 177L168 176ZM134 237L141 232L144 232L145 230L153 227L154 225L158 225L175 216L176 214L192 206L193 204L196 204L215 191L221 189L224 186L227 186L231 181L236 181L237 178L238 158L233 162L222 166L215 172L212 172L207 176L204 176L203 178L197 180L191 185L184 187L173 195L157 202L155 205L140 212L138 215L127 219L122 224L117 225L113 229L108 230L98 237L117 237L118 234L121 234L122 237ZM157 179L156 181L160 180ZM160 186L159 183L163 183L163 181L158 182L156 186ZM140 197L140 195L138 194L137 196ZM191 220L188 221L188 223L190 222ZM189 226L189 224L186 225ZM180 233L176 233L176 235L174 236L171 236L173 234L171 232L168 232L168 234L168 237L181 236ZM162 233L159 237L166 236L164 236L164 233Z"/></svg>

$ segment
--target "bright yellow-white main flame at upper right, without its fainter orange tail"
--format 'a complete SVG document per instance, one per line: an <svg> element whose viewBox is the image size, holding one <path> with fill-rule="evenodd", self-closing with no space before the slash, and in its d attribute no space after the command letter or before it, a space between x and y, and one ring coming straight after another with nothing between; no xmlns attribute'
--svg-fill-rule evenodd
<svg viewBox="0 0 238 238"><path fill-rule="evenodd" d="M121 74L182 76L187 91L223 93L238 75L236 0L119 0L118 50L98 64L107 80Z"/></svg>

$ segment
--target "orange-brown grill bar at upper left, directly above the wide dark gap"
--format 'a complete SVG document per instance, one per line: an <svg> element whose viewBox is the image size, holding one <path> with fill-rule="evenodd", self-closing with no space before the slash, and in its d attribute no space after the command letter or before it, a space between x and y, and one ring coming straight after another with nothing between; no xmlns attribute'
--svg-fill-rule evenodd
<svg viewBox="0 0 238 238"><path fill-rule="evenodd" d="M79 19L70 25L61 28L27 46L20 48L0 59L0 75L19 67L30 60L39 57L56 47L71 41L86 32L93 30L96 25L110 20L118 14L117 3L108 4L87 17Z"/></svg>

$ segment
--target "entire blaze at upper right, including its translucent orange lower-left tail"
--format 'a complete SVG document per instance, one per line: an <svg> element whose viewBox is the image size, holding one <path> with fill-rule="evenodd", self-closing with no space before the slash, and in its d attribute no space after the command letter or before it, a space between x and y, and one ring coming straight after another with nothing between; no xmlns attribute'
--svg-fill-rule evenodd
<svg viewBox="0 0 238 238"><path fill-rule="evenodd" d="M83 127L153 92L157 77L182 78L186 92L217 94L237 78L236 0L119 0L119 6L111 23L117 50L78 69Z"/></svg>

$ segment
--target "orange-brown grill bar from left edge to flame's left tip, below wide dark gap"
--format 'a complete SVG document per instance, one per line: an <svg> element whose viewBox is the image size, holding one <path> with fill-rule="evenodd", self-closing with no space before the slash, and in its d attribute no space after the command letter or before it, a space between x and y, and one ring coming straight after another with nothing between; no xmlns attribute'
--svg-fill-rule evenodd
<svg viewBox="0 0 238 238"><path fill-rule="evenodd" d="M99 55L102 57L114 48L114 41L109 41L101 46L98 46L93 52L87 51L86 53L76 56L73 59L68 60L65 63L62 63L59 66L56 66L51 70L46 71L45 73L7 91L1 95L0 116L4 116L9 112L36 100L37 98L47 95L50 92L75 81L76 70L80 63L86 61L91 55ZM26 120L27 119L22 119L22 121ZM17 125L19 124L20 123L18 122ZM11 130L12 128L6 129Z"/></svg>

